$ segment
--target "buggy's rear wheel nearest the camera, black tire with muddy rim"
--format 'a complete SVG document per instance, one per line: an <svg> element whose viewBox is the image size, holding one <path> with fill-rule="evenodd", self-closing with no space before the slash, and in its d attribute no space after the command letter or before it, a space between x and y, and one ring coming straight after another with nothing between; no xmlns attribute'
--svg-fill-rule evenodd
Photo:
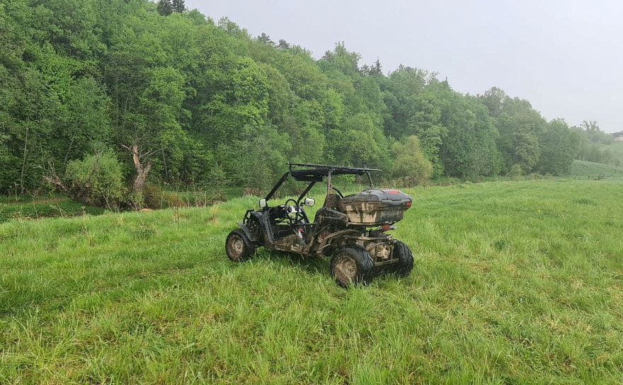
<svg viewBox="0 0 623 385"><path fill-rule="evenodd" d="M375 263L360 246L338 248L331 258L331 277L341 287L367 285L374 278Z"/></svg>

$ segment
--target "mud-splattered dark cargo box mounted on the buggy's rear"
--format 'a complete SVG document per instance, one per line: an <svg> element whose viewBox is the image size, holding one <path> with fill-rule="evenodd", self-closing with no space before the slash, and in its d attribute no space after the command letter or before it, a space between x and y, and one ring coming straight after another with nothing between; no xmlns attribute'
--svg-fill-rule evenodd
<svg viewBox="0 0 623 385"><path fill-rule="evenodd" d="M348 215L349 224L377 226L400 221L411 202L411 196L399 190L370 188L343 197L340 211Z"/></svg>

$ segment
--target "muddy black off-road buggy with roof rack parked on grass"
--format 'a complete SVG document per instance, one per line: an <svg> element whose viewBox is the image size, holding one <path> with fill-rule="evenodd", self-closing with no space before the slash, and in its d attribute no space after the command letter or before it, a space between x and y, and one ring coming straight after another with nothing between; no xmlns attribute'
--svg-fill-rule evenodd
<svg viewBox="0 0 623 385"><path fill-rule="evenodd" d="M259 246L299 253L308 257L331 257L331 275L338 285L366 285L381 272L406 276L413 268L413 256L406 244L391 238L387 231L403 219L411 207L411 197L399 190L375 189L370 173L381 170L287 163L290 171L259 201L260 210L247 210L244 219L225 241L230 260L251 258ZM342 195L331 184L338 175L367 176L370 188ZM268 201L287 180L309 183L295 199L270 207ZM316 183L326 179L326 198L310 222L304 206L314 206L305 197Z"/></svg>

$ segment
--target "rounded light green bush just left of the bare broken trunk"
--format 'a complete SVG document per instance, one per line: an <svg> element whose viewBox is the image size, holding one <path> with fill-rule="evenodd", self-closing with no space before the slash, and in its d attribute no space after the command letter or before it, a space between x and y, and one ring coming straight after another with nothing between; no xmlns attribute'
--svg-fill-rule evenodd
<svg viewBox="0 0 623 385"><path fill-rule="evenodd" d="M116 209L125 197L122 166L112 151L70 161L65 179L72 197L88 205Z"/></svg>

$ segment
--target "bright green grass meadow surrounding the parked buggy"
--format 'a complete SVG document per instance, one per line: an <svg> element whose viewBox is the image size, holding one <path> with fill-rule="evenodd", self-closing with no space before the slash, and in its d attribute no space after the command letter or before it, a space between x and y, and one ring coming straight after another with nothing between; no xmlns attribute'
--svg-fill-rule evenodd
<svg viewBox="0 0 623 385"><path fill-rule="evenodd" d="M328 263L230 263L244 197L0 224L0 382L623 382L623 185L409 190L410 277L340 289Z"/></svg>

